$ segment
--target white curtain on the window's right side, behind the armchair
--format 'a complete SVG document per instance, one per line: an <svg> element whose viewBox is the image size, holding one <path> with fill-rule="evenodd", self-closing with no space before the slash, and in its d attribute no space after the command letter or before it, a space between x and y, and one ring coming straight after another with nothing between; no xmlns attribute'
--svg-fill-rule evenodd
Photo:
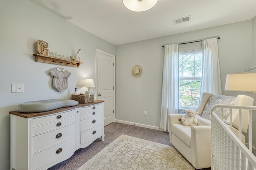
<svg viewBox="0 0 256 170"><path fill-rule="evenodd" d="M203 40L202 92L222 94L218 42L216 38Z"/></svg>

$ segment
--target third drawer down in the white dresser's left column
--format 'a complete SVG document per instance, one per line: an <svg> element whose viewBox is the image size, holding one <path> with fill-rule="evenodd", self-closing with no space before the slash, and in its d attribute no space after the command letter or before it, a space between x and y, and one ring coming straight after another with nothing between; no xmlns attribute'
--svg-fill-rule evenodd
<svg viewBox="0 0 256 170"><path fill-rule="evenodd" d="M50 131L33 137L33 152L38 152L57 143L61 143L66 139L75 135L75 123L62 127L60 129Z"/></svg>

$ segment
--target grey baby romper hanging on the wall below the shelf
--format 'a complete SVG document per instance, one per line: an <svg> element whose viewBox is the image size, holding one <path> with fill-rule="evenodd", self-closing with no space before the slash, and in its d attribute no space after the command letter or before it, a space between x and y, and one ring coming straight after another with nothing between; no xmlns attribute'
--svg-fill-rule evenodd
<svg viewBox="0 0 256 170"><path fill-rule="evenodd" d="M70 76L70 72L65 68L54 68L50 70L50 73L53 76L52 85L59 92L63 92L68 88L68 77Z"/></svg>

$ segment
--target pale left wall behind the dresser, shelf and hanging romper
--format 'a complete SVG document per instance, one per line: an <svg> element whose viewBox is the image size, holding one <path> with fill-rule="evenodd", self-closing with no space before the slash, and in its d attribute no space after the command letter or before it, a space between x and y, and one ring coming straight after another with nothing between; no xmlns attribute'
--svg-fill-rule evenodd
<svg viewBox="0 0 256 170"><path fill-rule="evenodd" d="M34 61L36 41L49 43L49 50L74 55L82 49L79 68L64 66L71 76L68 89L57 92L49 71L55 64ZM2 0L0 5L0 169L10 169L10 114L18 104L33 100L70 99L85 78L95 81L96 48L115 54L115 46L44 10L29 0ZM11 83L23 83L23 93L11 93ZM94 90L94 89L92 89Z"/></svg>

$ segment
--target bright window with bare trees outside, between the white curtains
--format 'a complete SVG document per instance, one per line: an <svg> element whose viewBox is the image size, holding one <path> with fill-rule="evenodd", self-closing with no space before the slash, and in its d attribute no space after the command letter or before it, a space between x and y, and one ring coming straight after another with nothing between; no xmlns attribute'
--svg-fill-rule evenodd
<svg viewBox="0 0 256 170"><path fill-rule="evenodd" d="M200 49L188 51L180 49L179 109L194 109L198 106L200 100L203 63L202 46L200 46Z"/></svg>

